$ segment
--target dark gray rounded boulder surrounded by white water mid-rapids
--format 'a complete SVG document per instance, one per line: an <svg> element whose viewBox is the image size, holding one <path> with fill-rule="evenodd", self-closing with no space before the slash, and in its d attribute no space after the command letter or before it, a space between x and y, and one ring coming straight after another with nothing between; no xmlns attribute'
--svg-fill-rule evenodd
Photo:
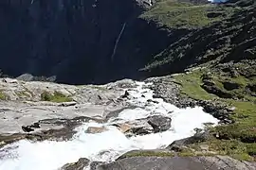
<svg viewBox="0 0 256 170"><path fill-rule="evenodd" d="M171 127L172 119L161 115L148 117L148 123L154 128L154 132L166 131Z"/></svg>

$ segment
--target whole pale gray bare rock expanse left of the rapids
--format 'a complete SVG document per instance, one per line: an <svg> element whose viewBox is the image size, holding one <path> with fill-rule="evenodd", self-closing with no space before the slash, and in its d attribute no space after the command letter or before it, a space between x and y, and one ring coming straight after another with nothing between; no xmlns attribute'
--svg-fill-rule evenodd
<svg viewBox="0 0 256 170"><path fill-rule="evenodd" d="M73 86L52 82L20 81L0 78L0 92L8 96L0 100L0 134L24 132L42 119L72 119L78 116L105 118L122 109L126 102L117 100L124 88L135 86L133 80L120 80L102 86ZM59 92L73 98L72 102L41 101L41 93ZM49 129L54 127L42 127Z"/></svg>

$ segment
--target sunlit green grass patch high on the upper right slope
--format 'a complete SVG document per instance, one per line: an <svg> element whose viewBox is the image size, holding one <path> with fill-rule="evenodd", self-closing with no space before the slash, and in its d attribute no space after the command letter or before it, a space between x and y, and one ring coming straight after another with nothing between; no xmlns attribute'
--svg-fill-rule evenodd
<svg viewBox="0 0 256 170"><path fill-rule="evenodd" d="M214 11L214 17L208 14ZM195 5L189 2L178 0L160 0L153 8L143 13L140 17L146 20L154 20L165 26L208 26L210 23L220 21L229 13L232 8L219 8L214 5Z"/></svg>

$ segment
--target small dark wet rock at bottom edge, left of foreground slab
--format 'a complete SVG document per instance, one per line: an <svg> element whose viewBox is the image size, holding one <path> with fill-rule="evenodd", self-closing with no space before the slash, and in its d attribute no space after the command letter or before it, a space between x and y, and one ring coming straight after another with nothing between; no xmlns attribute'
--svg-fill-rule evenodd
<svg viewBox="0 0 256 170"><path fill-rule="evenodd" d="M89 160L86 158L81 158L79 161L74 163L66 163L61 170L83 170L86 166L89 165Z"/></svg>

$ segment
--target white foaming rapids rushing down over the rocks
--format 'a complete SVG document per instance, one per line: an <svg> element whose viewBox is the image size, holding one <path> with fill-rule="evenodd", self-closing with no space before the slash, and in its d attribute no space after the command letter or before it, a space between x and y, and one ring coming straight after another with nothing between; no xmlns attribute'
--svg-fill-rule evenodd
<svg viewBox="0 0 256 170"><path fill-rule="evenodd" d="M57 170L67 162L75 162L80 158L91 161L114 161L121 154L134 149L155 149L192 136L194 128L203 128L204 123L217 124L218 120L205 113L202 108L178 109L162 99L153 99L153 91L143 89L145 83L137 82L137 88L129 91L134 96L130 99L133 110L123 110L118 119L111 119L108 123L84 123L78 127L72 140L66 142L44 141L31 143L26 140L11 144L9 152L0 160L0 170ZM141 95L145 97L142 97ZM153 99L159 103L147 102ZM144 108L144 109L141 109ZM160 114L172 118L172 127L160 133L127 138L113 123L122 123ZM87 127L107 127L108 130L97 133L85 133ZM2 149L0 149L1 152Z"/></svg>

